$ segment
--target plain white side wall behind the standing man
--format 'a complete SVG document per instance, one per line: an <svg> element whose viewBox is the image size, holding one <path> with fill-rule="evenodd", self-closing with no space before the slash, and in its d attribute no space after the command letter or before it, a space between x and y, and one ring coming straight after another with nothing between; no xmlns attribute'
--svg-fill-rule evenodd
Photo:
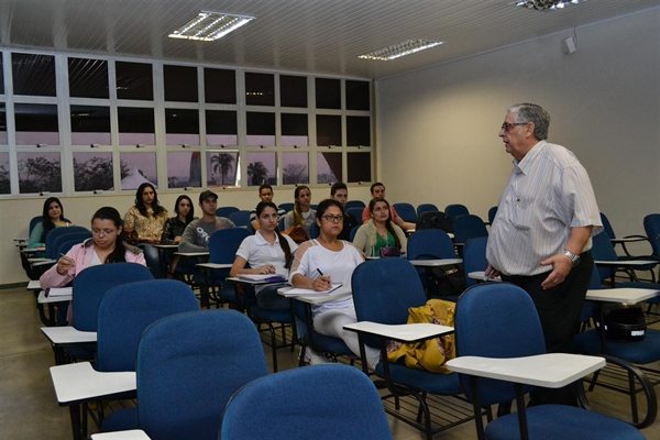
<svg viewBox="0 0 660 440"><path fill-rule="evenodd" d="M578 51L563 55L572 34L378 81L387 198L461 202L486 218L512 169L497 138L506 109L535 102L552 117L549 141L587 169L617 234L642 232L642 218L660 212L660 9L578 29Z"/></svg>

